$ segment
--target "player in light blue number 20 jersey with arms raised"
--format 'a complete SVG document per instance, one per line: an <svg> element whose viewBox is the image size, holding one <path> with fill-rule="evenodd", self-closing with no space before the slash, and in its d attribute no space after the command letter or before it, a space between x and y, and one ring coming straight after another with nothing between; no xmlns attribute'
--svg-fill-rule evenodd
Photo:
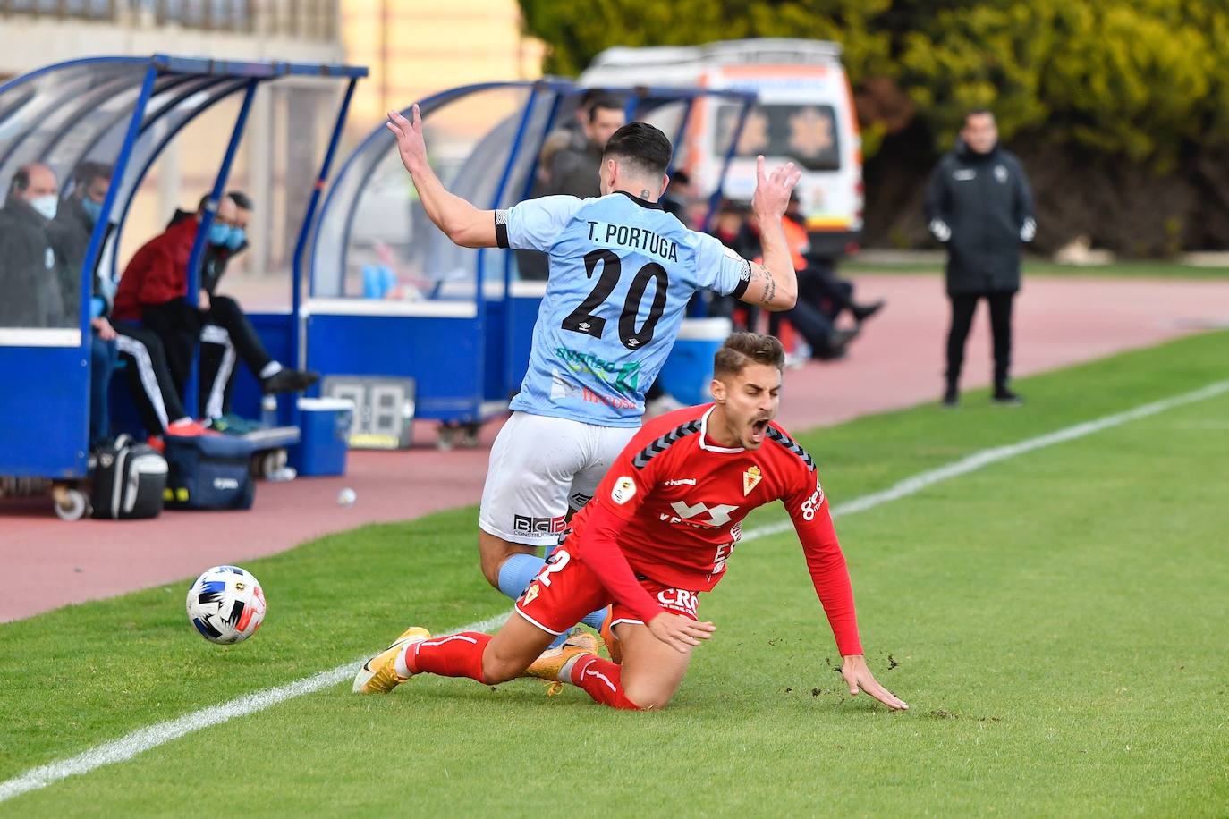
<svg viewBox="0 0 1229 819"><path fill-rule="evenodd" d="M543 196L479 210L449 193L426 160L423 124L388 113L426 215L462 247L532 249L549 258L528 372L490 451L478 513L482 571L516 599L543 567L571 512L592 496L640 426L644 390L673 346L692 295L709 289L769 311L789 309L798 280L782 215L801 173L757 163L751 206L763 264L686 228L660 205L670 140L628 123L606 144L601 196ZM605 611L585 623L602 625ZM605 634L605 631L603 631Z"/></svg>

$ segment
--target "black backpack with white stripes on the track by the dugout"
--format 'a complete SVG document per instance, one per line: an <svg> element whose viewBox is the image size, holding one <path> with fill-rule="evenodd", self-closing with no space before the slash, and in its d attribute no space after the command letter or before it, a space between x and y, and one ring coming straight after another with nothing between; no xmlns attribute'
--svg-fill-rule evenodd
<svg viewBox="0 0 1229 819"><path fill-rule="evenodd" d="M152 518L162 512L167 467L154 447L122 435L114 446L95 451L92 462L93 517Z"/></svg>

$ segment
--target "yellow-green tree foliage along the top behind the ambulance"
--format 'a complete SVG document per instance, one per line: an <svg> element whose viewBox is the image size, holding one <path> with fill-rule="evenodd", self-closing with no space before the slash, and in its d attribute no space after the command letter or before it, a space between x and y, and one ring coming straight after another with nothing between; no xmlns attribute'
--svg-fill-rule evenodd
<svg viewBox="0 0 1229 819"><path fill-rule="evenodd" d="M995 112L1007 139L1029 133L1158 171L1190 142L1229 144L1223 0L520 2L558 74L579 72L611 45L809 37L844 47L855 88L907 95L936 149L977 106ZM864 108L870 156L889 123Z"/></svg>

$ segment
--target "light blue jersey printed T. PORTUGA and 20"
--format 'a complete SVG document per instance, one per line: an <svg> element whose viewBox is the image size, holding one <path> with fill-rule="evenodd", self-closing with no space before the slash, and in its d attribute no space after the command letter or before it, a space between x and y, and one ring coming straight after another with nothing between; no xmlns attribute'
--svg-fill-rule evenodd
<svg viewBox="0 0 1229 819"><path fill-rule="evenodd" d="M543 196L495 212L500 247L551 259L521 392L510 406L600 426L639 426L644 392L697 290L741 296L751 268L656 203L616 192Z"/></svg>

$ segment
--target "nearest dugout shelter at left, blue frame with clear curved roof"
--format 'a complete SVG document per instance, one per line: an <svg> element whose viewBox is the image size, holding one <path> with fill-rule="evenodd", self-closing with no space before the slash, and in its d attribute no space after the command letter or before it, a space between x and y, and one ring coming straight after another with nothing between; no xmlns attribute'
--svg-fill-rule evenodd
<svg viewBox="0 0 1229 819"><path fill-rule="evenodd" d="M252 99L263 83L290 77L344 87L328 149L316 174L306 214L297 230L290 316L264 335L286 361L300 360L297 314L302 287L302 249L320 194L337 153L355 83L363 66L317 63L211 60L154 54L95 56L31 71L0 85L0 189L29 162L55 171L64 195L81 162L113 166L112 183L77 271L76 316L59 327L0 327L0 475L77 479L86 475L90 414L90 301L93 276L116 279L118 241L133 199L151 166L186 125L229 98L238 114L229 134L188 265L189 298L198 291L205 236L248 120ZM190 388L189 388L190 392ZM194 395L186 395L188 406Z"/></svg>

